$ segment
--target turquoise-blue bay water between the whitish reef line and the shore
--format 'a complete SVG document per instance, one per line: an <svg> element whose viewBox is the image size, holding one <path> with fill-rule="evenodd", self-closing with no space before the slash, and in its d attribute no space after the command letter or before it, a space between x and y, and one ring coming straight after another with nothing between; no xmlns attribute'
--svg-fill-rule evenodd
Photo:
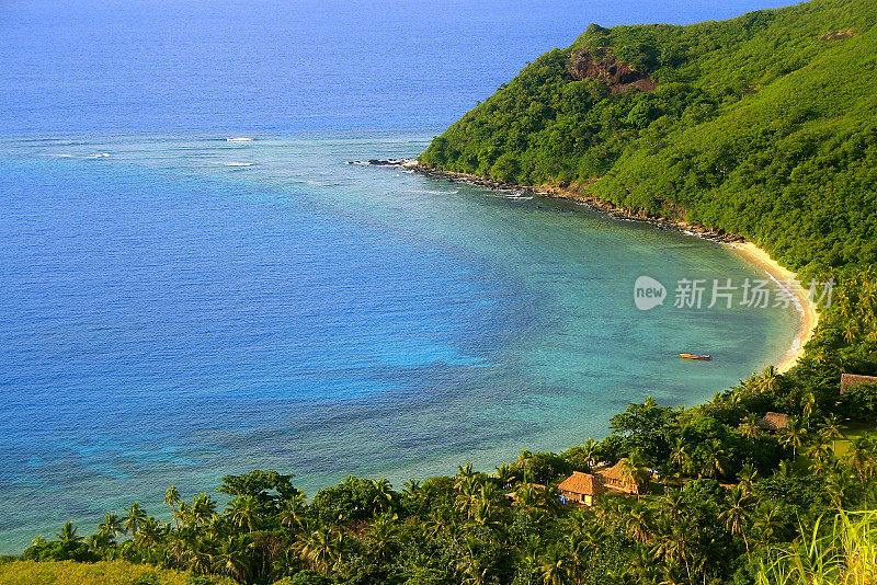
<svg viewBox="0 0 877 585"><path fill-rule="evenodd" d="M791 343L794 309L636 309L639 275L759 276L718 244L344 164L428 136L225 138L0 142L7 550L252 468L311 495L491 469Z"/></svg>

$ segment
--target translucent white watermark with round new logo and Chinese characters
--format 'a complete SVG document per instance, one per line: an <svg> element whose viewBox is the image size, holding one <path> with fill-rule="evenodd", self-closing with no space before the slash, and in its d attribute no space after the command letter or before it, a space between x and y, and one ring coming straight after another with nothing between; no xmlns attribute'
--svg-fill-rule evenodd
<svg viewBox="0 0 877 585"><path fill-rule="evenodd" d="M674 289L673 307L676 309L731 309L748 307L766 309L768 307L788 308L800 305L798 295L804 294L810 302L822 307L831 307L834 279L827 282L810 280L805 292L796 280L763 280L744 278L734 283L731 278L680 278ZM634 303L640 311L651 310L664 303L667 288L651 276L640 276L634 283Z"/></svg>

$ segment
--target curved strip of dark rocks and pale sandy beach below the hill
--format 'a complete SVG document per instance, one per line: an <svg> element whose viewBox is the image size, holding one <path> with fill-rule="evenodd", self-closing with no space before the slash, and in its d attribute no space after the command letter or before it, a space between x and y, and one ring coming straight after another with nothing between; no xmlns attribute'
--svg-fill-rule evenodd
<svg viewBox="0 0 877 585"><path fill-rule="evenodd" d="M816 326L819 322L819 312L817 311L816 305L810 300L807 295L807 291L801 287L800 283L796 278L796 274L788 268L782 266L778 262L776 262L771 254L767 253L762 248L759 248L755 243L748 241L741 236L726 232L725 230L714 230L709 228L705 228L703 226L696 226L693 223L688 223L686 221L671 219L667 217L656 217L642 209L629 209L625 207L618 207L611 202L599 199L591 195L584 194L579 190L573 188L572 186L559 186L559 185L538 185L538 186L528 186L528 185L517 185L513 183L504 183L501 181L496 181L490 177L472 175L468 173L456 173L453 171L443 171L441 169L435 169L433 167L429 167L426 164L422 164L417 160L392 160L392 161L368 161L367 164L389 164L394 167L403 167L414 173L430 176L434 179L441 179L444 181L449 181L452 183L462 182L467 183L485 188L489 188L491 191L524 191L527 193L532 193L534 195L540 195L543 197L553 197L558 199L569 199L579 204L586 205L591 209L595 211L600 211L606 214L611 217L616 219L626 219L626 220L635 220L635 221L643 221L648 223L652 223L656 227L660 227L662 229L672 229L682 231L685 233L690 233L694 237L711 240L718 243L721 243L732 250L734 250L740 256L749 260L750 262L756 264L759 267L764 269L768 277L776 283L777 286L783 287L786 291L789 292L790 297L795 299L795 307L798 309L798 312L801 314L800 324L798 326L798 332L795 335L795 340L791 343L791 347L788 348L786 354L782 357L782 360L778 364L775 364L775 367L779 374L785 374L789 369L791 369L795 364L798 363L798 359L805 353L805 345L810 339L813 336L813 332L816 331Z"/></svg>

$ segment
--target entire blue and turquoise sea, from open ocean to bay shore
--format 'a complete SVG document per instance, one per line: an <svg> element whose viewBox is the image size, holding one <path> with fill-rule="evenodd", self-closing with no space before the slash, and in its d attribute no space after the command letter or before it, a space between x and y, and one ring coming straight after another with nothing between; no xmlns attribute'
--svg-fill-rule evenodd
<svg viewBox="0 0 877 585"><path fill-rule="evenodd" d="M254 468L490 470L779 358L794 307L634 306L640 275L763 277L727 248L345 164L415 157L591 22L776 5L0 3L0 552Z"/></svg>

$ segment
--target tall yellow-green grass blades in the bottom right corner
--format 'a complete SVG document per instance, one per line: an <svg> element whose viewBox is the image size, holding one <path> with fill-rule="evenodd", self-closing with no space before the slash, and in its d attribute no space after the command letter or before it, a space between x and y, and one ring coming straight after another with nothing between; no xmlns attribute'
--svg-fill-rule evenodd
<svg viewBox="0 0 877 585"><path fill-rule="evenodd" d="M762 561L758 585L877 584L877 511L841 512Z"/></svg>

